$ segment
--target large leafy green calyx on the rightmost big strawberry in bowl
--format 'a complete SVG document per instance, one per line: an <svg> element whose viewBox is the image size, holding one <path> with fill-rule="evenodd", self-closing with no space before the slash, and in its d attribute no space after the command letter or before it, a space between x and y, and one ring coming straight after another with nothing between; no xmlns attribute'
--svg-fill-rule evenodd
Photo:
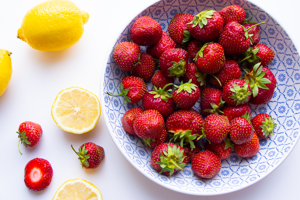
<svg viewBox="0 0 300 200"><path fill-rule="evenodd" d="M243 79L250 85L250 88L253 92L253 97L256 97L258 94L258 88L269 89L265 84L271 83L271 81L267 78L263 78L267 71L262 72L262 66L260 66L260 62L253 66L253 70L250 72L248 69L244 69L246 72Z"/></svg>

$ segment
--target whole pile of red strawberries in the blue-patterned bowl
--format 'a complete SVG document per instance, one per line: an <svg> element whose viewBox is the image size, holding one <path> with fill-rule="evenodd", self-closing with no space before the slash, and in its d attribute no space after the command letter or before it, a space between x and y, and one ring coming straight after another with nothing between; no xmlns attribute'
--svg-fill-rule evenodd
<svg viewBox="0 0 300 200"><path fill-rule="evenodd" d="M129 76L121 80L121 94L107 94L123 95L124 103L142 100L143 109L128 110L122 124L154 149L151 164L159 173L171 176L191 162L196 175L212 178L231 148L253 157L258 137L274 134L274 119L268 114L252 118L247 104L267 103L276 88L267 68L275 54L258 43L262 23L246 20L238 5L196 16L177 13L169 34L142 16L130 30L134 42L116 46L113 57ZM140 46L147 46L146 52ZM147 91L144 80L150 78L153 88ZM174 85L176 79L180 85ZM197 101L202 114L192 108ZM200 138L206 139L204 151Z"/></svg>

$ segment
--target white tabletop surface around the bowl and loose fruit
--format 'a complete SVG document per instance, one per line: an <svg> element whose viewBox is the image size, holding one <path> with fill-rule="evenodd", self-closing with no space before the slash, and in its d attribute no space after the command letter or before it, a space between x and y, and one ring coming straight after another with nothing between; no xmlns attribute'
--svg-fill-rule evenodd
<svg viewBox="0 0 300 200"><path fill-rule="evenodd" d="M101 117L93 130L82 135L64 132L51 117L52 103L61 90L78 86L100 98L100 74L107 49L131 19L156 0L73 0L89 13L82 38L74 46L59 52L41 52L16 38L23 16L41 0L0 0L0 48L11 55L13 74L0 97L0 199L52 199L58 187L69 179L82 178L101 191L103 199L299 199L299 152L297 144L289 157L261 181L237 192L219 196L191 196L168 190L138 172L113 143ZM298 7L293 0L251 0L270 14L300 49ZM42 126L43 136L34 148L20 147L19 124L34 121ZM105 150L105 159L97 169L82 169L75 149L94 142ZM50 186L32 192L24 184L24 167L41 157L53 168Z"/></svg>

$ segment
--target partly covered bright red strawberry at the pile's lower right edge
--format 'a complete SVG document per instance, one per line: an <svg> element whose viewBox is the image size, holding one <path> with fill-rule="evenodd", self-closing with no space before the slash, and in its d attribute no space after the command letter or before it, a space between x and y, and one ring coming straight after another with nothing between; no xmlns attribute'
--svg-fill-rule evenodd
<svg viewBox="0 0 300 200"><path fill-rule="evenodd" d="M241 145L235 144L233 149L238 155L244 158L255 156L259 151L259 139L256 133L253 133L253 137L249 142L245 142Z"/></svg>

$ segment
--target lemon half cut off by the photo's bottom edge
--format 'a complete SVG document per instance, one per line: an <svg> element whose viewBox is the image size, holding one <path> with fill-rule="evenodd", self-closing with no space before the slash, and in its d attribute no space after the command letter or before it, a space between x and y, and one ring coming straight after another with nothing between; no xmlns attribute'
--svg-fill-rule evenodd
<svg viewBox="0 0 300 200"><path fill-rule="evenodd" d="M58 188L52 200L101 200L102 194L98 188L83 180L73 179L64 182Z"/></svg>

